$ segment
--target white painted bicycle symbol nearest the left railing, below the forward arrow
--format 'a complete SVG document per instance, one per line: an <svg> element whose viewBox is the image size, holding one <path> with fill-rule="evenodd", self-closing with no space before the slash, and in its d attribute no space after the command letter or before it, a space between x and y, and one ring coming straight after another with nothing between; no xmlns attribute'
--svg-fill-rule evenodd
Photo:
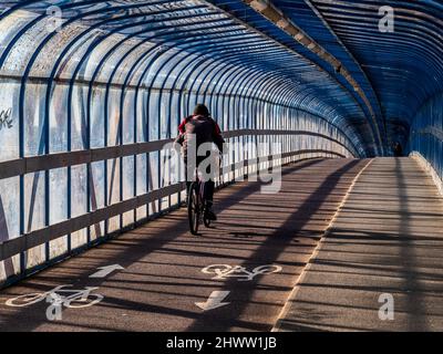
<svg viewBox="0 0 443 354"><path fill-rule="evenodd" d="M86 287L84 290L64 289L72 284L59 285L47 292L35 292L9 299L6 304L11 308L24 308L45 301L49 296L59 299L60 303L68 309L82 309L97 304L104 298L101 294L92 293L99 288Z"/></svg>

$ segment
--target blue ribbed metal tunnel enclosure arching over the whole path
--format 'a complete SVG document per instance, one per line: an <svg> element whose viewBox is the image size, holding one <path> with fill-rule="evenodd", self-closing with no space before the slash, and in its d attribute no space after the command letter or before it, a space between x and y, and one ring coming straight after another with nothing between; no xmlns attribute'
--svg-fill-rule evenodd
<svg viewBox="0 0 443 354"><path fill-rule="evenodd" d="M367 101L328 62L240 0L0 2L0 86L10 93L0 104L12 105L17 122L8 135L0 128L7 146L0 162L169 138L193 105L204 102L225 131L306 132L300 140L230 139L281 142L286 152L328 145L349 156L373 156L393 140L406 142L412 127L409 149L442 175L441 3L271 2L340 60ZM63 18L48 31L47 10L54 4ZM400 14L395 33L378 32L382 4ZM228 163L254 154L238 145ZM16 230L7 237L20 237L162 188L162 169L169 165L159 150L0 179L0 220ZM54 176L63 179L60 188ZM17 199L6 195L11 184ZM106 220L103 230L89 227L27 251L13 259L14 271L24 274L181 198L169 195ZM0 263L0 281L2 272Z"/></svg>

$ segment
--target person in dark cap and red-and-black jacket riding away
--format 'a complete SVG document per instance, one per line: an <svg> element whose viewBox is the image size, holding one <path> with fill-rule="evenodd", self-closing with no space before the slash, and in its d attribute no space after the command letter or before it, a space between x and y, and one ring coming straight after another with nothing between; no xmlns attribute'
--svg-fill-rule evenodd
<svg viewBox="0 0 443 354"><path fill-rule="evenodd" d="M223 154L223 144L225 143L225 139L222 136L218 124L210 117L209 110L204 104L198 104L194 110L194 114L182 122L178 126L178 136L175 139L176 143L182 145L183 157L186 166L186 185L188 192L192 183L192 178L188 176L188 160L190 158L188 154L190 153L189 145L192 137L195 137L196 140L195 152L198 150L202 144L213 143L217 146L220 154ZM196 162L196 167L198 167L200 163L209 156L210 152L207 152L206 156L194 156L193 160ZM208 173L214 176L214 171ZM217 217L213 211L214 189L215 183L213 177L210 177L208 180L205 180L203 198L205 200L205 218L213 221L217 220Z"/></svg>

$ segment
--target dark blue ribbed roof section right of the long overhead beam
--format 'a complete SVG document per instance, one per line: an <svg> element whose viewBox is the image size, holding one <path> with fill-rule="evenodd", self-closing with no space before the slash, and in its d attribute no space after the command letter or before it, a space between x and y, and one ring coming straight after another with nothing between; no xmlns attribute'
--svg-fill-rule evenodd
<svg viewBox="0 0 443 354"><path fill-rule="evenodd" d="M290 13L292 1L276 1ZM299 2L299 1L297 1ZM443 91L442 6L435 1L341 1L334 7L323 0L310 1L334 34L353 53L372 83L388 127L389 144L408 140L415 112L429 97ZM394 10L394 32L379 31L379 9ZM331 33L313 25L315 17L303 13L293 20L319 42L332 43ZM347 64L350 63L348 60ZM369 91L369 88L367 88Z"/></svg>

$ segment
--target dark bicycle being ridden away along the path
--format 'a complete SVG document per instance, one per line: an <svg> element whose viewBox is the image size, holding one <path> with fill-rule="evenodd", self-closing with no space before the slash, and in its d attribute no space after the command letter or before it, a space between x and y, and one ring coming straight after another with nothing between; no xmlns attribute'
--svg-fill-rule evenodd
<svg viewBox="0 0 443 354"><path fill-rule="evenodd" d="M205 227L210 227L210 220L205 217L205 183L202 181L198 168L196 168L195 173L195 180L190 184L189 190L187 192L187 216L189 220L189 229L190 233L197 236L198 235L198 227L203 222Z"/></svg>

